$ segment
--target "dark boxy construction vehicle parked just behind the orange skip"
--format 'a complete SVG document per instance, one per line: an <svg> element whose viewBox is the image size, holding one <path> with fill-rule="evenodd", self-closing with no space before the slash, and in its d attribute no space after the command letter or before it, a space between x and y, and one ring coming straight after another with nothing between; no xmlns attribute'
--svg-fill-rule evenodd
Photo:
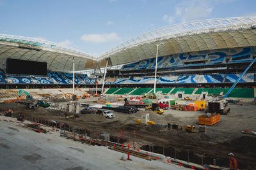
<svg viewBox="0 0 256 170"><path fill-rule="evenodd" d="M208 103L208 108L205 108L205 113L220 113L221 115L227 115L230 112L228 103L225 99L217 99Z"/></svg>

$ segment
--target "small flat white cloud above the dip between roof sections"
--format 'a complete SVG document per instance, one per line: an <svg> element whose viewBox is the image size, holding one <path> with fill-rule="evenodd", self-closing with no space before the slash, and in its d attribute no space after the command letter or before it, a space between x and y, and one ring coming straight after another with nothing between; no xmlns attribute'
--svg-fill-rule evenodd
<svg viewBox="0 0 256 170"><path fill-rule="evenodd" d="M110 34L84 34L81 36L81 39L85 42L106 43L109 41L118 41L121 38L116 32L112 32Z"/></svg>

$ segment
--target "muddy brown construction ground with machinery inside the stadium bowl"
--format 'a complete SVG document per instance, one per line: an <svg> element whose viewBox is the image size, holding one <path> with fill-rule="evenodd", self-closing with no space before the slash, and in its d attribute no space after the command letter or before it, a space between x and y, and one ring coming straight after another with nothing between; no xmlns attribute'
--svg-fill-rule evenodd
<svg viewBox="0 0 256 170"><path fill-rule="evenodd" d="M166 99L166 96L175 97L171 94L158 97L108 95L108 91L112 89L106 90L106 93L100 97L91 97L84 89L86 94L84 99L82 97L72 99L63 95L68 90L70 91L70 89L62 89L60 92L58 89L49 89L48 92L40 95L40 90L30 89L33 96L40 97L44 103L51 103L51 105L36 104L38 106L35 108L29 108L28 104L20 101L31 103L38 99L35 97L34 99L16 99L16 102L0 104L1 114L6 116L1 117L1 120L17 117L18 122L26 120L26 122L29 121L28 124L40 124L58 129L58 133L65 138L81 141L87 145L111 146L113 147L111 149L117 152L127 152L127 146L130 145L131 152L141 153L134 156L143 157L146 160L156 160L156 157L160 157L161 162L182 164L184 167L193 166L195 169L206 169L205 165L208 165L209 169L225 168L228 165L227 153L229 152L236 154L241 169L253 169L256 166L255 132L250 131L255 128L256 123L256 106L252 101L228 103L228 113L224 115L221 113L217 120L200 122L200 116L205 115L205 110L211 110L211 102L195 101L190 97L182 100ZM77 89L76 94L82 96L81 91L83 90ZM19 91L9 90L5 95L15 96L15 94L19 95ZM22 93L20 96L24 98L28 97L26 96L28 94L28 92ZM42 97L46 94L48 94L47 97ZM163 113L153 111L152 103L163 99L166 99L168 105L158 104L157 106ZM149 103L146 104L147 102ZM195 103L198 102L202 104L198 104L197 108ZM128 103L136 106L138 110L135 113L125 113L122 107ZM148 106L151 106L151 109L148 109ZM111 108L118 107L123 110L111 111ZM115 117L104 117L99 113L102 108L110 110ZM87 112L81 114L82 110ZM145 116L147 116L145 120L147 122L143 120ZM36 131L38 127L29 128ZM123 148L121 146L124 146L126 151L120 150ZM148 157L147 152L156 155Z"/></svg>

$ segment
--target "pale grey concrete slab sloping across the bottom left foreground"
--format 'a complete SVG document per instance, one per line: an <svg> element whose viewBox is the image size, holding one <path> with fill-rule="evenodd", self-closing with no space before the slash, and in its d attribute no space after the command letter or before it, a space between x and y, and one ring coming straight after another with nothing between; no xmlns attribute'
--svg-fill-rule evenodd
<svg viewBox="0 0 256 170"><path fill-rule="evenodd" d="M1 121L0 129L0 169L186 169L132 156L123 161L123 153L107 147L74 142L58 132L38 134L13 122Z"/></svg>

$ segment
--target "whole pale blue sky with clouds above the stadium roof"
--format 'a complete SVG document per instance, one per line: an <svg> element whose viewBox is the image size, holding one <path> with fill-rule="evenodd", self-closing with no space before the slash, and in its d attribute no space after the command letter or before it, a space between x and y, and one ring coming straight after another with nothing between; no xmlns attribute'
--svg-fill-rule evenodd
<svg viewBox="0 0 256 170"><path fill-rule="evenodd" d="M0 34L47 39L99 56L167 25L256 16L255 6L255 0L0 0Z"/></svg>

